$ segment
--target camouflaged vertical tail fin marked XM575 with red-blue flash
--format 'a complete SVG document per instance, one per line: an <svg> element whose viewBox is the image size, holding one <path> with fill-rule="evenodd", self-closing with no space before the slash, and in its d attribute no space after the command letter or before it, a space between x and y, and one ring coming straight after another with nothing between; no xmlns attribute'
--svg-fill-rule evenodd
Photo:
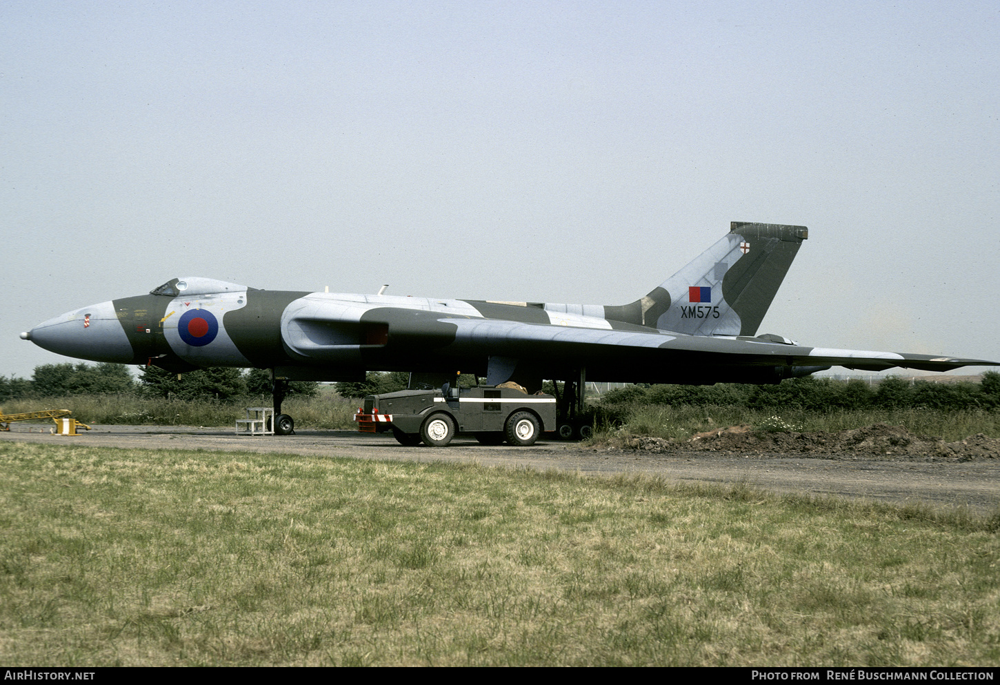
<svg viewBox="0 0 1000 685"><path fill-rule="evenodd" d="M754 335L792 265L805 226L734 221L722 240L608 319L689 335Z"/></svg>

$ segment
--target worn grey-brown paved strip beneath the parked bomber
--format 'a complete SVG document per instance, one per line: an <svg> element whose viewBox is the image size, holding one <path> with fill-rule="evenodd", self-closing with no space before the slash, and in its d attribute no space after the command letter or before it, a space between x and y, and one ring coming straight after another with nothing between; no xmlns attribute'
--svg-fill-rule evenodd
<svg viewBox="0 0 1000 685"><path fill-rule="evenodd" d="M34 430L35 432L28 432ZM43 430L44 432L38 432ZM403 447L386 435L302 430L295 435L237 436L232 429L160 426L94 426L89 433L58 436L49 427L14 424L0 440L139 449L206 449L286 453L355 459L465 461L484 465L583 473L649 473L678 481L747 482L777 492L807 492L933 507L968 506L991 513L1000 505L1000 459L928 462L848 453L803 456L744 450L585 449L541 441L534 447L484 446L464 436L444 448Z"/></svg>

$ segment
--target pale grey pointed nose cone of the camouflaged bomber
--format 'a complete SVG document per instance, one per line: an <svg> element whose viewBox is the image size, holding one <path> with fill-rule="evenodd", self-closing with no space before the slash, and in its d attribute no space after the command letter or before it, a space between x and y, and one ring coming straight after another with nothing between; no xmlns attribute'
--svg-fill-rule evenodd
<svg viewBox="0 0 1000 685"><path fill-rule="evenodd" d="M128 364L135 356L111 302L67 312L21 337L49 352L95 362Z"/></svg>

